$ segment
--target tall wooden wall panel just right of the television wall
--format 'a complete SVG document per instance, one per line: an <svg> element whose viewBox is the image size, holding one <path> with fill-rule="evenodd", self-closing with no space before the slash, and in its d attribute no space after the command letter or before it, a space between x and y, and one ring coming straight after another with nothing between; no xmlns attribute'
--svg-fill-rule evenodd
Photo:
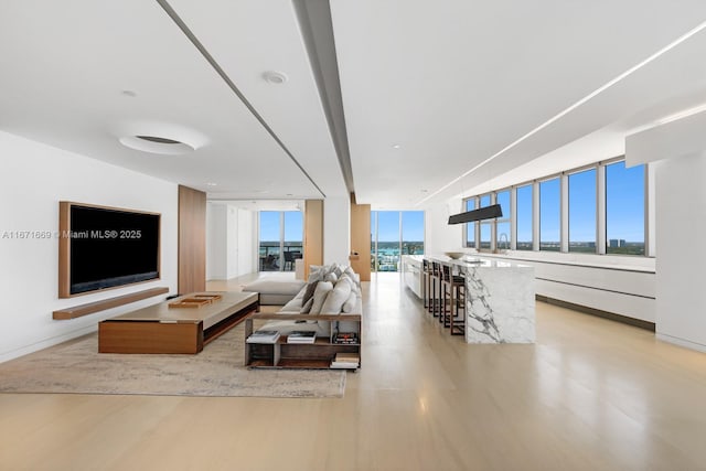
<svg viewBox="0 0 706 471"><path fill-rule="evenodd" d="M206 289L206 193L179 185L179 292Z"/></svg>

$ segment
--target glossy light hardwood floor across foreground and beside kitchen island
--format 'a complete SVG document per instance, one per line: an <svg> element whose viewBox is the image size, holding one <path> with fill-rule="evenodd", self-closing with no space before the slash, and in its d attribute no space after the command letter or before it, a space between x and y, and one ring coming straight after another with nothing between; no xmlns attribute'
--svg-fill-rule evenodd
<svg viewBox="0 0 706 471"><path fill-rule="evenodd" d="M0 395L0 469L706 468L704 354L539 302L535 345L467 345L396 274L364 307L343 399Z"/></svg>

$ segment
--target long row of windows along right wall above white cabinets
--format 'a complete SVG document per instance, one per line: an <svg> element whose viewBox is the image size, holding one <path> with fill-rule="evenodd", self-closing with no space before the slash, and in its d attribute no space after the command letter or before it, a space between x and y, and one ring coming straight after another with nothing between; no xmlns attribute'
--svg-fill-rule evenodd
<svg viewBox="0 0 706 471"><path fill-rule="evenodd" d="M498 203L503 216L469 223L463 243L503 249L503 234L512 233L510 246L517 250L653 255L646 246L648 194L648 168L627 168L620 158L566 170L464 199L468 211L475 202Z"/></svg>

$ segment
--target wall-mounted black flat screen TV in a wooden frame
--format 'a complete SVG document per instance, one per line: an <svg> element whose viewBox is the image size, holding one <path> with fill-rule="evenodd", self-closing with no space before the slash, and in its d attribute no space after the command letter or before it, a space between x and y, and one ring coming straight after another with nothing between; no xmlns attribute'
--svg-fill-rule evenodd
<svg viewBox="0 0 706 471"><path fill-rule="evenodd" d="M159 279L160 214L60 202L58 296Z"/></svg>

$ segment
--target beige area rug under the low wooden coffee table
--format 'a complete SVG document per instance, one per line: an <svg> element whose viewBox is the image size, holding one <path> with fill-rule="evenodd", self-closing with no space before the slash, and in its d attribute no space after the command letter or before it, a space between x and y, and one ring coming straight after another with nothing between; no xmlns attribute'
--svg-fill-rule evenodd
<svg viewBox="0 0 706 471"><path fill-rule="evenodd" d="M0 393L343 397L345 372L247 370L244 323L197 355L98 353L90 334L0 364Z"/></svg>

